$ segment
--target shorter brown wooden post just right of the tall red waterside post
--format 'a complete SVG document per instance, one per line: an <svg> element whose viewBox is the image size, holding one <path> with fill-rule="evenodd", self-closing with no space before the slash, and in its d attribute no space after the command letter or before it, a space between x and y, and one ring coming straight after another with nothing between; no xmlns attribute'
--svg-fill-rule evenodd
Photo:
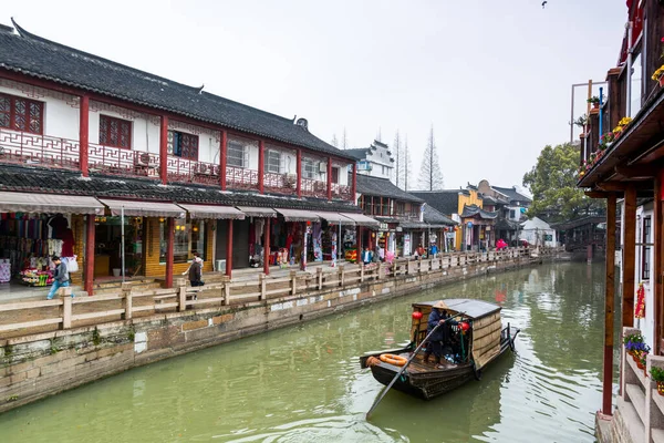
<svg viewBox="0 0 664 443"><path fill-rule="evenodd" d="M636 266L636 187L630 184L624 200L622 326L634 326L634 272Z"/></svg>

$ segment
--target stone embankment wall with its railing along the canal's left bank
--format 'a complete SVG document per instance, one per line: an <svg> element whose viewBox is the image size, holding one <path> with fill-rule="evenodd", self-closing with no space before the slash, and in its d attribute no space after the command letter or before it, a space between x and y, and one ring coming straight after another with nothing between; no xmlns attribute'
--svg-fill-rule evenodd
<svg viewBox="0 0 664 443"><path fill-rule="evenodd" d="M114 295L0 305L0 313L12 313L0 317L0 412L168 357L559 253L449 254L282 278L257 275L256 281L222 281L200 292L126 287Z"/></svg>

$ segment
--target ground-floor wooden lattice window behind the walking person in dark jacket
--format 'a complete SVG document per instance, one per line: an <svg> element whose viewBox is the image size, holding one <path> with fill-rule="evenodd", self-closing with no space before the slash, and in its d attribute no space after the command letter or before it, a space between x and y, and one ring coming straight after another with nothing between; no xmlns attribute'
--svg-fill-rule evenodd
<svg viewBox="0 0 664 443"><path fill-rule="evenodd" d="M166 235L166 219L159 223L159 262L166 262L168 236ZM191 220L186 223L183 218L175 220L175 244L173 247L173 262L187 262L194 253L198 253L205 260L206 251L205 222Z"/></svg>

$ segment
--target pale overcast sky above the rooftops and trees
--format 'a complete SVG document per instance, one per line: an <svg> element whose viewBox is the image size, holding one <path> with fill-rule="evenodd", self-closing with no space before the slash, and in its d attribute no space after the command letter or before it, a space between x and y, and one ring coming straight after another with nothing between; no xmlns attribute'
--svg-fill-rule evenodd
<svg viewBox="0 0 664 443"><path fill-rule="evenodd" d="M328 142L400 130L415 171L433 124L447 188L520 185L569 141L571 84L605 80L626 19L624 0L2 2L6 24L297 114Z"/></svg>

